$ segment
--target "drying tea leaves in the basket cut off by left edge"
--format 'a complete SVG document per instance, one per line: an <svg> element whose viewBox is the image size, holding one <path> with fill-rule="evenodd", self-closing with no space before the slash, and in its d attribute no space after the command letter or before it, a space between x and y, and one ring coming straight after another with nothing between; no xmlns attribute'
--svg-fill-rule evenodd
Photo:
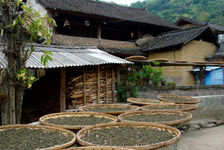
<svg viewBox="0 0 224 150"><path fill-rule="evenodd" d="M72 135L43 129L7 129L0 131L1 150L31 150L70 142Z"/></svg>

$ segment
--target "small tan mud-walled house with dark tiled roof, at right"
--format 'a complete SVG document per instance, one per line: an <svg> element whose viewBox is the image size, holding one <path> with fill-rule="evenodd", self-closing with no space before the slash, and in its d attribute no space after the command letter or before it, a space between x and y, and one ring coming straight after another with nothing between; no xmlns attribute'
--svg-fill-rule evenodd
<svg viewBox="0 0 224 150"><path fill-rule="evenodd" d="M165 58L171 62L205 62L217 51L216 37L207 26L198 26L167 32L148 42L143 52L148 59ZM193 66L164 66L163 74L178 85L195 85L196 79L190 70Z"/></svg>

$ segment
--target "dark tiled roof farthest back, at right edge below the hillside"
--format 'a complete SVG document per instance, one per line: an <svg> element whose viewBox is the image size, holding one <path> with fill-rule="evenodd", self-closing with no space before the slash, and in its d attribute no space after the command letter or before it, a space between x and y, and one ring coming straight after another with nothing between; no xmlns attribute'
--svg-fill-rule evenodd
<svg viewBox="0 0 224 150"><path fill-rule="evenodd" d="M176 25L179 25L181 24L181 22L187 22L187 23L190 23L190 24L194 24L194 25L198 25L198 26L201 26L201 25L208 25L208 27L210 27L212 30L216 30L216 31L220 31L220 32L224 32L224 26L220 26L220 25L217 25L217 24L213 24L213 23L207 23L207 22L202 22L202 21L199 21L199 20L195 20L195 19L192 19L192 18L187 18L187 17L180 17L177 21L176 21Z"/></svg>

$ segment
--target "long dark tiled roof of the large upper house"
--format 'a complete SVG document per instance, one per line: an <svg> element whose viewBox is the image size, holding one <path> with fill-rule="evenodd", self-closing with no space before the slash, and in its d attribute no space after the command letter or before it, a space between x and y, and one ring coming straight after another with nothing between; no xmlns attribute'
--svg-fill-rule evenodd
<svg viewBox="0 0 224 150"><path fill-rule="evenodd" d="M53 11L96 15L104 18L146 23L172 29L178 28L175 24L138 8L94 2L92 0L38 0L38 2L45 8Z"/></svg>

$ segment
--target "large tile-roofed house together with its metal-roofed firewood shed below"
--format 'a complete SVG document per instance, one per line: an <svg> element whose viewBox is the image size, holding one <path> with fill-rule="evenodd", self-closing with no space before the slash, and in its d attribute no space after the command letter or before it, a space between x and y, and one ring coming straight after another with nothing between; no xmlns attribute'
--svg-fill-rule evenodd
<svg viewBox="0 0 224 150"><path fill-rule="evenodd" d="M80 105L117 102L119 68L132 64L121 58L145 55L135 41L179 29L144 9L91 0L28 0L27 4L52 17L57 27L46 24L54 31L53 45L36 45L27 62L39 79L24 95L25 123ZM46 67L40 63L44 50L53 53Z"/></svg>

